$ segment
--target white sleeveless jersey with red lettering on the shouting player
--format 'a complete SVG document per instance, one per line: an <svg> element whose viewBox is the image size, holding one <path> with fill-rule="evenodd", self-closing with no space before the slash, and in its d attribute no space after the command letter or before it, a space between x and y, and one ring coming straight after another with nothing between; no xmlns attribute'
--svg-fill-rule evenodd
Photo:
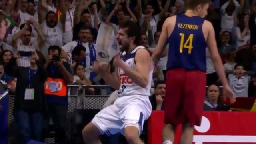
<svg viewBox="0 0 256 144"><path fill-rule="evenodd" d="M126 55L126 52L122 52L120 54L120 58L124 61L127 66L130 66L132 70L136 70L136 64L134 62L136 51L140 48L144 48L143 46L137 46L132 52ZM146 49L146 48L145 48ZM152 82L152 75L154 70L154 63L151 60L150 72L148 76L148 86L146 88L142 88L139 85L132 82L132 80L125 74L124 70L118 68L118 74L120 78L120 88L118 90L119 96L150 96L150 88Z"/></svg>

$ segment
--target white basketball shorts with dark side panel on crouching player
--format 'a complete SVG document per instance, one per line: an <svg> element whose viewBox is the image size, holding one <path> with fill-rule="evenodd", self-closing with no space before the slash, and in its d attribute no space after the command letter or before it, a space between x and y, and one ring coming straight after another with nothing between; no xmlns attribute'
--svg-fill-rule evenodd
<svg viewBox="0 0 256 144"><path fill-rule="evenodd" d="M114 104L104 108L92 120L92 123L107 136L121 132L124 135L126 125L138 124L142 133L144 120L151 114L152 106L148 96L122 96Z"/></svg>

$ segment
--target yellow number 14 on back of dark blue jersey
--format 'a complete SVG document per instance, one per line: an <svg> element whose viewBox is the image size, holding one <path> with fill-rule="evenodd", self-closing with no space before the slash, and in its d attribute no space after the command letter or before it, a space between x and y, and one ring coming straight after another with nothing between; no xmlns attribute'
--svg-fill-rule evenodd
<svg viewBox="0 0 256 144"><path fill-rule="evenodd" d="M180 53L183 53L183 49L184 48L188 48L188 54L191 54L193 46L193 38L194 38L194 34L190 34L188 36L188 39L186 40L185 44L184 44L184 39L185 39L185 34L184 33L180 33Z"/></svg>

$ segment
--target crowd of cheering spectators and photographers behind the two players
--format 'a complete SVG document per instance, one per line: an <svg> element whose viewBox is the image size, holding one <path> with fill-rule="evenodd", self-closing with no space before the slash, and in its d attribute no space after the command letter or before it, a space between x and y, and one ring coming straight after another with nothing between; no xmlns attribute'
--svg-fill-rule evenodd
<svg viewBox="0 0 256 144"><path fill-rule="evenodd" d="M211 1L206 20L214 25L230 87L238 97L254 97L256 0ZM30 138L41 140L40 130L52 117L56 142L62 144L67 85L107 84L93 72L97 46L102 40L114 46L119 24L132 20L141 28L140 45L152 53L164 20L182 14L184 0L1 0L0 9L8 18L8 30L0 42L0 76L2 83L17 82L14 118L20 143L25 144ZM164 109L168 46L164 53L153 76L156 87L150 100L155 110ZM217 110L218 105L223 108L224 104L220 102L219 80L208 49L206 64L209 98L204 109ZM82 86L70 91L80 96L78 108L82 108L84 94L112 92L111 88ZM225 106L224 109L229 110Z"/></svg>

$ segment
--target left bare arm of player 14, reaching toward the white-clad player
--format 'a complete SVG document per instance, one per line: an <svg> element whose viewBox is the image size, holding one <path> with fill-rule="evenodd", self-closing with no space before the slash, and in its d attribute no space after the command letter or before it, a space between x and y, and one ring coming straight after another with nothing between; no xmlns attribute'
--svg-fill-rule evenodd
<svg viewBox="0 0 256 144"><path fill-rule="evenodd" d="M161 32L158 44L152 54L152 60L154 64L157 64L161 56L163 56L163 52L166 49L168 37L170 36L170 34L174 29L175 22L176 22L176 16L169 17L165 20L162 26L162 32Z"/></svg>

